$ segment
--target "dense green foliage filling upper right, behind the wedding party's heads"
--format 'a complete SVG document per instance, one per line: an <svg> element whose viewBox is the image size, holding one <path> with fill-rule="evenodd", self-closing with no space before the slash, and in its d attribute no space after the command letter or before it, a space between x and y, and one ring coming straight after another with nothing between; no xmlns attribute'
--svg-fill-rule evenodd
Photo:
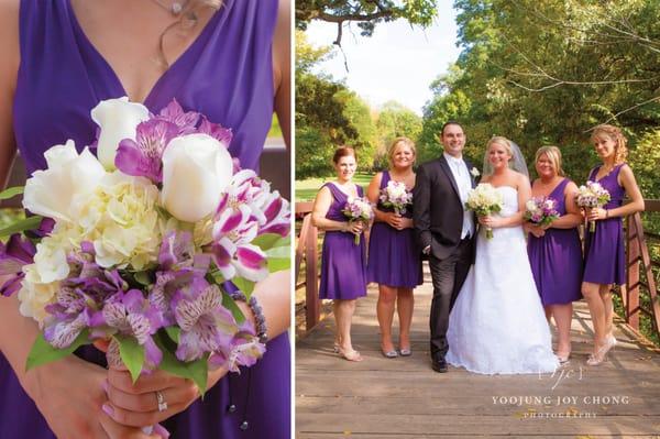
<svg viewBox="0 0 660 439"><path fill-rule="evenodd" d="M437 156L439 127L455 119L476 164L499 134L520 145L530 166L538 147L560 146L566 174L582 182L597 163L590 130L607 122L626 132L645 196L658 194L651 162L638 158L651 155L657 138L637 143L660 125L660 2L455 0L454 7L462 53L431 87L422 158Z"/></svg>

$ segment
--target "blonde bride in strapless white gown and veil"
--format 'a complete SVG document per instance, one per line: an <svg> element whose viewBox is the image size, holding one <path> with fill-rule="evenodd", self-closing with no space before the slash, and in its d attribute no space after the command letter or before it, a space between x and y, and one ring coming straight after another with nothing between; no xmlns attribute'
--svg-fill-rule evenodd
<svg viewBox="0 0 660 439"><path fill-rule="evenodd" d="M553 372L559 362L520 226L531 188L515 144L491 139L481 183L497 188L504 207L479 220L493 238L477 237L474 265L449 317L447 361L483 374Z"/></svg>

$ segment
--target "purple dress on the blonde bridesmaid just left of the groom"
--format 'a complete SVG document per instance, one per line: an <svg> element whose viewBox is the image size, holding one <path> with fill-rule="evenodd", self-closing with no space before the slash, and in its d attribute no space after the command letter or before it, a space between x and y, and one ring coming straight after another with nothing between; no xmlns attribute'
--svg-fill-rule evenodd
<svg viewBox="0 0 660 439"><path fill-rule="evenodd" d="M384 171L381 189L387 187L389 172ZM393 211L378 201L378 210ZM413 218L413 208L405 218ZM424 282L415 229L396 230L386 222L375 222L369 239L366 281L392 287L415 288Z"/></svg>

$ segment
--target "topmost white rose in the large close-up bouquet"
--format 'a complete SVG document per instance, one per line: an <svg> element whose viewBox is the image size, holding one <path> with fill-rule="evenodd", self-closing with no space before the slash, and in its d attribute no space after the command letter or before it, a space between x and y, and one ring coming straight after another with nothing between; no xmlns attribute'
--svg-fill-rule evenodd
<svg viewBox="0 0 660 439"><path fill-rule="evenodd" d="M148 109L142 103L129 102L125 96L100 101L91 110L91 119L99 125L97 156L106 169L113 171L119 142L135 140L135 129L148 119Z"/></svg>

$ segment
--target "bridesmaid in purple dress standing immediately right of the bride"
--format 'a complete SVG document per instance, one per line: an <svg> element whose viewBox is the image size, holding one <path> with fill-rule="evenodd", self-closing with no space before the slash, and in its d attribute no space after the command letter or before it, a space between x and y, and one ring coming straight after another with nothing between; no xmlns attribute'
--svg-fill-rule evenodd
<svg viewBox="0 0 660 439"><path fill-rule="evenodd" d="M531 184L531 196L554 199L560 217L543 227L525 222L525 230L530 233L527 253L546 317L554 318L557 325L557 358L565 363L571 355L573 301L582 298L582 244L578 233L582 216L575 206L578 186L564 177L559 147L540 147L535 162L539 178Z"/></svg>

